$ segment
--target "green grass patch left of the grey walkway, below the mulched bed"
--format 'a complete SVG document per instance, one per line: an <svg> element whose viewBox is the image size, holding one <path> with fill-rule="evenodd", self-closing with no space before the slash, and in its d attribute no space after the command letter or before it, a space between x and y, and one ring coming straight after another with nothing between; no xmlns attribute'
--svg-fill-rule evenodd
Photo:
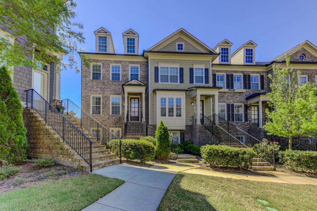
<svg viewBox="0 0 317 211"><path fill-rule="evenodd" d="M81 210L123 183L98 174L60 179L0 194L0 210Z"/></svg>

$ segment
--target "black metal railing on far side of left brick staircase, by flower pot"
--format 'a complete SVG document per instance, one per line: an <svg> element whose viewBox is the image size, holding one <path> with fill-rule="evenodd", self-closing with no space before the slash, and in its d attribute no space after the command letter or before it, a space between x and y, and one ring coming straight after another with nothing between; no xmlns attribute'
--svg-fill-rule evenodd
<svg viewBox="0 0 317 211"><path fill-rule="evenodd" d="M64 99L62 103L66 106L67 115L71 116L81 127L84 127L98 141L107 146L113 154L120 158L121 163L121 139L71 100Z"/></svg>

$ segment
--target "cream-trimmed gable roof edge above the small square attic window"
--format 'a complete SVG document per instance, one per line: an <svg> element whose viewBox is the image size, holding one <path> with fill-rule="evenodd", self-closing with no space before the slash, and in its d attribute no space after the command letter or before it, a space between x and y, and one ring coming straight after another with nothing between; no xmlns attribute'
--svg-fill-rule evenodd
<svg viewBox="0 0 317 211"><path fill-rule="evenodd" d="M166 46L169 44L171 41L177 39L180 35L183 35L183 38L197 47L199 50L201 50L204 53L216 53L214 50L212 50L209 46L204 44L202 41L198 40L196 37L191 35L189 32L187 32L184 28L180 28L174 33L168 35L165 37L163 40L159 41L152 47L148 48L146 51L157 51L161 49L162 47Z"/></svg>

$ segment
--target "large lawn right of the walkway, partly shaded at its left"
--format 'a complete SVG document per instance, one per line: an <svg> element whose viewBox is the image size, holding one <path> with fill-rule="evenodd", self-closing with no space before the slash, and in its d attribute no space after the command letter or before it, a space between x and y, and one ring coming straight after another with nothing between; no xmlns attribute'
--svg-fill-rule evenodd
<svg viewBox="0 0 317 211"><path fill-rule="evenodd" d="M266 210L257 202L281 210L316 210L317 186L268 183L178 173L158 211Z"/></svg>

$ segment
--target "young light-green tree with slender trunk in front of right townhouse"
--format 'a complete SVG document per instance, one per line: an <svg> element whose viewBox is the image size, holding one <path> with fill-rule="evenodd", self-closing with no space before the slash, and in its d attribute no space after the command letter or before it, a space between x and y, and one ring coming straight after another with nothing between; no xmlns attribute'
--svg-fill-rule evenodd
<svg viewBox="0 0 317 211"><path fill-rule="evenodd" d="M290 56L286 55L286 67L273 66L274 75L268 75L272 83L266 114L269 122L263 126L269 135L288 138L292 149L294 136L317 132L317 97L315 84L300 84L301 72L294 71Z"/></svg>

